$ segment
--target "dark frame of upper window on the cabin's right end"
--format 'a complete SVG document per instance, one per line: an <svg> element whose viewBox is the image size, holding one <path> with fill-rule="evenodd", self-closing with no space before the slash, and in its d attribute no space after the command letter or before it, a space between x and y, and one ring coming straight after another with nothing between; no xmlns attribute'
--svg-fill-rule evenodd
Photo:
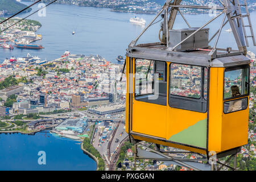
<svg viewBox="0 0 256 182"><path fill-rule="evenodd" d="M235 70L238 70L238 69L245 69L245 68L248 68L248 88L247 88L247 94L243 94L241 96L236 96L236 97L225 98L225 72L226 72L226 70L228 69L228 71L235 71ZM242 92L242 90L241 90L241 92ZM246 97L246 96L249 96L249 95L250 95L250 66L249 66L249 64L225 68L224 69L224 75L223 75L223 101L232 100L234 98Z"/></svg>

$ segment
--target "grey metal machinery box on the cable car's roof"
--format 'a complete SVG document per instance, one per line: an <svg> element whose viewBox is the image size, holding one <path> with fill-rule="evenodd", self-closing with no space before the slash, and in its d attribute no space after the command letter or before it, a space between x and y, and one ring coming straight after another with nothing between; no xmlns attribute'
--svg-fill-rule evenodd
<svg viewBox="0 0 256 182"><path fill-rule="evenodd" d="M198 28L185 28L179 30L170 30L170 47L175 47L182 40L187 38ZM177 51L188 51L197 48L207 48L209 42L209 28L203 28L202 30L196 32L191 38L186 40L184 43L180 44L176 48Z"/></svg>

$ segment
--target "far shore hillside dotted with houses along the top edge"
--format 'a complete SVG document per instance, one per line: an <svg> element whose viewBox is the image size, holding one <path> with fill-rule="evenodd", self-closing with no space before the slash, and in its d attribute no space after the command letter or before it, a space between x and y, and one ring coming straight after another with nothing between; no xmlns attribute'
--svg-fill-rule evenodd
<svg viewBox="0 0 256 182"><path fill-rule="evenodd" d="M36 0L28 0L36 1ZM48 3L51 0L43 0ZM79 5L90 7L106 7L117 12L129 12L138 14L156 14L162 8L166 0L58 0L56 3L67 5ZM240 0L243 3L243 0ZM182 5L199 5L199 6L222 6L219 0L183 0ZM249 11L256 10L255 0L247 0ZM200 9L181 9L186 14L208 13L209 10ZM245 9L242 9L243 13Z"/></svg>

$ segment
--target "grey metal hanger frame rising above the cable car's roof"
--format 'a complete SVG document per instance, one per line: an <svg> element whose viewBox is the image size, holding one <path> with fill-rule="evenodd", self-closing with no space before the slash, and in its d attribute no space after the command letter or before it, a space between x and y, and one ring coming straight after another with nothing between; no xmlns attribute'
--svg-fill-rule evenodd
<svg viewBox="0 0 256 182"><path fill-rule="evenodd" d="M162 10L159 11L159 13L155 16L154 19L147 25L146 28L141 32L141 34L138 35L138 37L133 40L129 44L129 48L127 49L127 53L133 53L135 50L144 50L145 48L151 48L151 51L156 52L166 52L166 53L178 53L181 54L183 52L177 51L177 47L180 46L182 43L186 42L189 38L192 38L197 32L202 30L204 27L206 27L208 24L212 23L213 20L216 20L219 18L221 15L224 14L224 18L221 21L220 28L218 31L212 36L212 38L209 39L210 43L214 38L216 38L214 46L213 47L208 47L209 53L208 57L209 60L215 59L217 57L224 57L224 56L233 56L233 55L246 55L247 54L247 49L246 47L249 47L249 44L247 42L247 38L251 37L253 39L253 44L256 46L255 39L254 39L254 32L253 29L251 28L251 36L246 35L245 27L251 27L250 23L250 14L247 12L246 15L242 15L241 13L241 6L246 6L246 11L247 11L247 4L245 1L245 5L240 5L238 0L224 0L219 2L223 7L209 7L209 6L196 6L196 5L180 5L182 0L167 0L165 5L163 6ZM187 36L187 38L183 39L181 42L176 44L174 47L170 47L169 45L169 31L172 30L174 26L174 22L176 19L176 15L179 12L181 17L184 19L185 23L189 28L191 28L191 25L189 24L188 20L185 19L185 16L183 13L181 13L180 8L189 8L189 9L208 9L208 10L222 10L221 13L217 14L214 18L210 19L207 23L203 24L200 28L197 28L196 31L194 31L191 35ZM164 14L162 14L164 12ZM168 17L168 14L170 16ZM163 26L162 26L162 38L160 42L158 43L149 43L149 44L138 44L138 40L141 38L141 36L144 34L144 32L147 31L147 29L152 26L152 24L155 24L155 20L159 17L162 16L163 20ZM243 23L243 18L247 17L249 20L249 26L244 26ZM227 20L226 20L227 18ZM234 38L237 43L238 50L232 50L232 48L217 48L218 40L221 35L222 28L229 22L230 27L232 29ZM161 30L160 30L161 31ZM159 32L160 33L160 32ZM159 36L160 37L160 36ZM159 46L164 46L165 48L162 49L152 49L153 47L159 47ZM218 53L217 53L218 51ZM185 52L185 54L187 54ZM192 53L193 54L193 53ZM199 55L198 53L196 54L197 56ZM207 55L204 55L207 56Z"/></svg>

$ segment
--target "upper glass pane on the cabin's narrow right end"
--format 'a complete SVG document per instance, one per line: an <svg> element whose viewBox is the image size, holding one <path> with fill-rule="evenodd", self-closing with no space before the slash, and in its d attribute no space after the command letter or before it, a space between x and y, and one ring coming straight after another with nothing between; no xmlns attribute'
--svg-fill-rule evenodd
<svg viewBox="0 0 256 182"><path fill-rule="evenodd" d="M224 99L248 93L249 68L227 68L224 75Z"/></svg>

